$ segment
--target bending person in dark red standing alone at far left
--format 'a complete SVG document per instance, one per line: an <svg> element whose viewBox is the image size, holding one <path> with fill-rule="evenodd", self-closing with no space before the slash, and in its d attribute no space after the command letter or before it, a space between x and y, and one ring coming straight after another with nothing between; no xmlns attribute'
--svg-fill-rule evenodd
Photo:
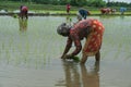
<svg viewBox="0 0 131 87"><path fill-rule="evenodd" d="M27 15L28 9L25 5L21 5L20 7L20 17L23 20L24 17L27 20L28 15Z"/></svg>

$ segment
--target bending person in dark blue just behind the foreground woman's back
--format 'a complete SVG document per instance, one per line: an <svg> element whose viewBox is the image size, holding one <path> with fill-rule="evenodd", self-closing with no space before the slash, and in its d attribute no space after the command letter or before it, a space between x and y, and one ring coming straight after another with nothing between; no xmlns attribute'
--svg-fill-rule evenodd
<svg viewBox="0 0 131 87"><path fill-rule="evenodd" d="M91 14L90 11L81 8L78 13L78 20L79 21L81 21L82 18L86 20L86 16L90 14Z"/></svg>

